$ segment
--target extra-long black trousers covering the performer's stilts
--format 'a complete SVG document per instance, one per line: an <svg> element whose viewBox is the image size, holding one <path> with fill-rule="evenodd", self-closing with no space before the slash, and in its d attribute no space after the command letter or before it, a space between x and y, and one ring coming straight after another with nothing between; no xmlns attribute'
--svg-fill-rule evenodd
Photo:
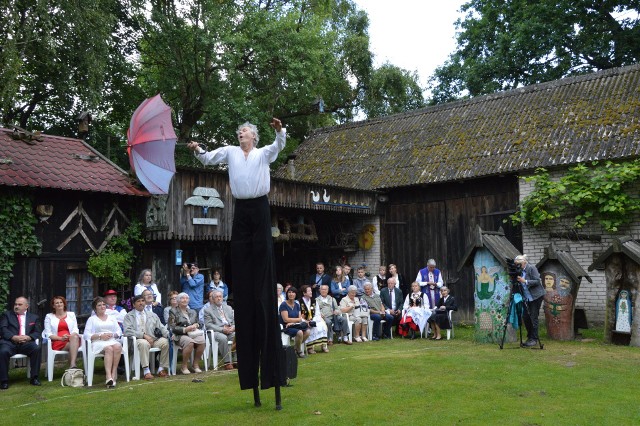
<svg viewBox="0 0 640 426"><path fill-rule="evenodd" d="M267 196L236 200L231 235L240 389L279 386L282 340Z"/></svg>

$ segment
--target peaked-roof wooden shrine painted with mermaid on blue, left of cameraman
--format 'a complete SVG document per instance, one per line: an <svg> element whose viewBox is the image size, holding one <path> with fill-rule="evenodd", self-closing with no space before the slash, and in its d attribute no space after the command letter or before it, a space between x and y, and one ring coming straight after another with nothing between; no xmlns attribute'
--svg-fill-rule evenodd
<svg viewBox="0 0 640 426"><path fill-rule="evenodd" d="M476 228L458 272L465 266L472 266L474 270L474 338L477 342L502 342L511 297L507 259L514 259L519 254L502 230ZM516 333L510 324L507 324L506 331L505 342L515 342Z"/></svg>

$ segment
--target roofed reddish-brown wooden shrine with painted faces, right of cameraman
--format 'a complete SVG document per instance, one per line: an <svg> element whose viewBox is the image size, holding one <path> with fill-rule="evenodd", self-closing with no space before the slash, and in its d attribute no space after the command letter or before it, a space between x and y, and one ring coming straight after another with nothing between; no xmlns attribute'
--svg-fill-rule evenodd
<svg viewBox="0 0 640 426"><path fill-rule="evenodd" d="M545 288L544 318L547 335L554 340L573 340L576 335L575 302L580 281L591 277L582 269L569 251L551 243L544 249L544 257L536 265ZM586 324L582 325L586 327Z"/></svg>

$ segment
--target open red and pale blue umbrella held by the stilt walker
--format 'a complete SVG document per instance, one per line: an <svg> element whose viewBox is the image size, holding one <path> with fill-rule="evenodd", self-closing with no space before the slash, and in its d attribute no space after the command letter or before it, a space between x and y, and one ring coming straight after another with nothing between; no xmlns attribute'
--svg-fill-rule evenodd
<svg viewBox="0 0 640 426"><path fill-rule="evenodd" d="M127 139L129 164L140 182L152 194L168 193L176 172L177 137L171 123L171 108L159 94L142 102L133 113Z"/></svg>

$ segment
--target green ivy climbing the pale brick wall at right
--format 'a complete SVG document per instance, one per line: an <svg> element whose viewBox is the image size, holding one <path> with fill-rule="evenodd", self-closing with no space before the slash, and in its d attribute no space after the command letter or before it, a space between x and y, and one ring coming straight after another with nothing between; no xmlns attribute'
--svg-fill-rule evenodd
<svg viewBox="0 0 640 426"><path fill-rule="evenodd" d="M514 225L539 227L569 218L575 229L597 221L608 232L616 232L640 210L640 198L630 191L640 179L640 160L581 163L559 179L540 168L524 179L534 182L534 189L510 216Z"/></svg>

